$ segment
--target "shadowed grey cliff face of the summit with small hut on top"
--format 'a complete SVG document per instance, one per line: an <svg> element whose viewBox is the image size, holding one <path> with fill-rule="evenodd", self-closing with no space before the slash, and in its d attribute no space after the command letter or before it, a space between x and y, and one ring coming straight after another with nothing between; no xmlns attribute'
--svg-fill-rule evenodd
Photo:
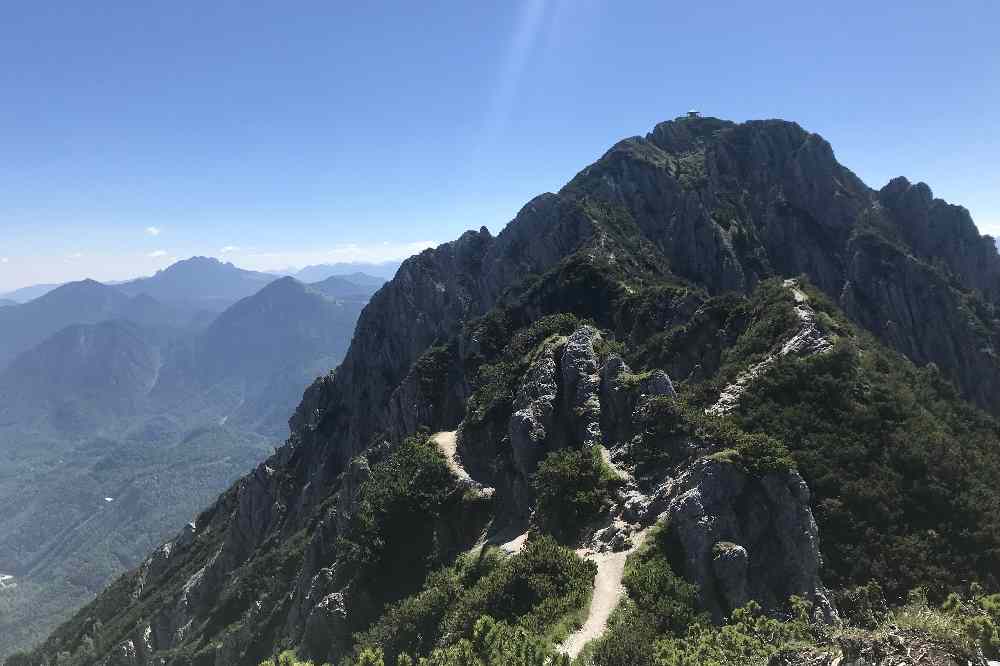
<svg viewBox="0 0 1000 666"><path fill-rule="evenodd" d="M562 193L579 192L627 209L671 270L714 293L807 275L887 344L1000 410L996 326L961 304L974 291L1000 303L1000 256L927 185L872 190L795 123L682 118L618 143ZM873 244L875 229L907 247Z"/></svg>

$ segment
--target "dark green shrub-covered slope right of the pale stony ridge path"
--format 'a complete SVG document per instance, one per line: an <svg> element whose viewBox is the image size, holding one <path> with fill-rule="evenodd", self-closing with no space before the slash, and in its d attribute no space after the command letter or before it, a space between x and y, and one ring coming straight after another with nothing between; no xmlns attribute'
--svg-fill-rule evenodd
<svg viewBox="0 0 1000 666"><path fill-rule="evenodd" d="M1000 584L998 424L933 368L844 340L778 360L734 418L791 449L813 494L829 584L874 578L896 602L915 587L940 601L969 578Z"/></svg>

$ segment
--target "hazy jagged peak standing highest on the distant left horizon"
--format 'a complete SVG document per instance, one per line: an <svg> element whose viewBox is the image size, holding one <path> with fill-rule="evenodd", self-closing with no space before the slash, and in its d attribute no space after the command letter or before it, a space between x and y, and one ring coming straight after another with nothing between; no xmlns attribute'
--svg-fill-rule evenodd
<svg viewBox="0 0 1000 666"><path fill-rule="evenodd" d="M228 305L274 280L269 273L244 270L211 257L191 257L117 288L130 295L148 294L164 303L214 301Z"/></svg>

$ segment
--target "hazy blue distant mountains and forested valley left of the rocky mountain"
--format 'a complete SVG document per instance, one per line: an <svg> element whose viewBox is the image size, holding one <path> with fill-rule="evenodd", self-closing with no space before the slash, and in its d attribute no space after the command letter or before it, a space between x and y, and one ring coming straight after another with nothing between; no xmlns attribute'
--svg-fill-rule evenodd
<svg viewBox="0 0 1000 666"><path fill-rule="evenodd" d="M262 459L383 283L195 257L0 307L0 657Z"/></svg>

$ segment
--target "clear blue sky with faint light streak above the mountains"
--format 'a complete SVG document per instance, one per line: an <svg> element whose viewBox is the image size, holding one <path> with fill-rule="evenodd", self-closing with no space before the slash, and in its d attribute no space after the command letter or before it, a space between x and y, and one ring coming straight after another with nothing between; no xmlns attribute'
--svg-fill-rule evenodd
<svg viewBox="0 0 1000 666"><path fill-rule="evenodd" d="M0 290L497 231L692 107L796 120L1000 233L998 26L992 2L3 3Z"/></svg>

